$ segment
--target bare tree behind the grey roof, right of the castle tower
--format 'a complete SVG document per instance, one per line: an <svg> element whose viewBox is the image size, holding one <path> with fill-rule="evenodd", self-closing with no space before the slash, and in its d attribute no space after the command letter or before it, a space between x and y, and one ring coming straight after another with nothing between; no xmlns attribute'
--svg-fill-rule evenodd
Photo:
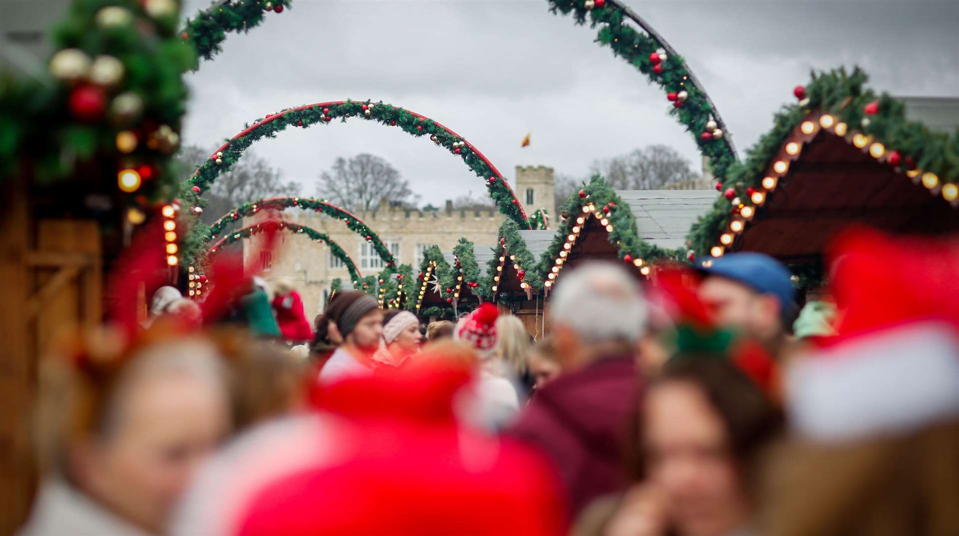
<svg viewBox="0 0 959 536"><path fill-rule="evenodd" d="M647 145L629 154L595 160L590 167L617 190L658 190L695 176L692 164L668 145Z"/></svg>

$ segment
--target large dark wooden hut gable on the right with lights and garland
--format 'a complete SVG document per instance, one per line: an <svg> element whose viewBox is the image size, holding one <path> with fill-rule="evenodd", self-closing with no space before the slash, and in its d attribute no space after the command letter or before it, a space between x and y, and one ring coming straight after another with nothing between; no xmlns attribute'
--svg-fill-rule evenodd
<svg viewBox="0 0 959 536"><path fill-rule="evenodd" d="M893 234L959 231L959 99L918 100L932 127L901 100L863 90L864 75L833 71L776 118L748 161L731 172L713 211L690 238L700 262L728 252L777 257L824 282L823 253L851 226ZM914 117L914 116L912 116ZM948 121L947 118L951 118ZM727 193L728 192L728 193Z"/></svg>

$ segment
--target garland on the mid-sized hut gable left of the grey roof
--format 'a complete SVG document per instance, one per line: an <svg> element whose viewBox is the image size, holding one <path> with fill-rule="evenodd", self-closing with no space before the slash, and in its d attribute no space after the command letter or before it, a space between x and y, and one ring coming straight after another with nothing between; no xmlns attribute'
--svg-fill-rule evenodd
<svg viewBox="0 0 959 536"><path fill-rule="evenodd" d="M583 187L579 193L573 193L570 199L563 207L562 214L565 217L562 225L559 226L555 236L550 243L550 247L540 257L539 264L535 271L527 274L533 277L527 277L526 281L536 280L539 287L542 288L543 282L549 277L555 259L559 257L559 252L563 249L563 244L567 241L567 236L573 233L573 226L577 225L576 218L583 216L585 218L595 217L592 212L583 212L583 207L593 204L597 212L601 212L603 217L609 220L613 226L613 231L607 234L609 242L619 250L619 257L629 261L634 259L643 259L642 267L652 260L659 259L680 259L681 250L668 250L659 246L650 244L639 237L636 231L636 217L617 195L616 191L610 188L606 181L599 175L594 175L590 183Z"/></svg>

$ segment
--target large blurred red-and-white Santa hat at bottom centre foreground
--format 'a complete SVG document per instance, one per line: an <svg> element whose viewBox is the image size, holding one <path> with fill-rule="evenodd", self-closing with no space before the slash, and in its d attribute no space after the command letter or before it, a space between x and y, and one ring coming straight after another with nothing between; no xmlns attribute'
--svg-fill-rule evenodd
<svg viewBox="0 0 959 536"><path fill-rule="evenodd" d="M565 534L547 464L457 423L473 374L422 358L327 386L321 413L253 431L205 467L174 534Z"/></svg>

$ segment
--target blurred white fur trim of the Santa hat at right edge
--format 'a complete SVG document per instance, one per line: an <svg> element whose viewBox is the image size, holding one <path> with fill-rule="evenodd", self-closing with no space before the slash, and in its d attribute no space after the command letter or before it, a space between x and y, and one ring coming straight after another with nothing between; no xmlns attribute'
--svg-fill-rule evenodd
<svg viewBox="0 0 959 536"><path fill-rule="evenodd" d="M794 429L826 441L959 418L959 336L930 321L840 343L794 364L786 399Z"/></svg>

